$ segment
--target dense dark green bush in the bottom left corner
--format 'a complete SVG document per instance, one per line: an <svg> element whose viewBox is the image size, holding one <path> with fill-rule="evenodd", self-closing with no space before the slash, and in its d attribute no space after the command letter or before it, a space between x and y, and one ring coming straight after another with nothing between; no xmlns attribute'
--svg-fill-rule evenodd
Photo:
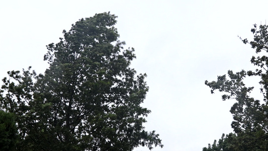
<svg viewBox="0 0 268 151"><path fill-rule="evenodd" d="M0 150L15 150L18 139L16 117L0 110Z"/></svg>

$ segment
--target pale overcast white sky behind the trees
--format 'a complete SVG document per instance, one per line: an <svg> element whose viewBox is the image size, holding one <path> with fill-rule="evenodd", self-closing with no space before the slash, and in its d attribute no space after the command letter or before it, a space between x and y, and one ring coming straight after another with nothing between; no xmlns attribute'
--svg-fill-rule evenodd
<svg viewBox="0 0 268 151"><path fill-rule="evenodd" d="M222 101L221 93L212 95L205 80L254 68L250 58L255 51L238 36L252 39L252 25L268 19L267 6L268 1L258 0L2 1L0 78L28 66L43 73L46 45L59 42L62 31L79 19L110 11L118 16L125 48L135 48L131 66L148 75L150 89L142 106L152 112L144 126L156 130L164 144L153 150L202 150L232 132L234 103ZM246 84L257 82L251 78ZM260 97L259 90L252 96Z"/></svg>

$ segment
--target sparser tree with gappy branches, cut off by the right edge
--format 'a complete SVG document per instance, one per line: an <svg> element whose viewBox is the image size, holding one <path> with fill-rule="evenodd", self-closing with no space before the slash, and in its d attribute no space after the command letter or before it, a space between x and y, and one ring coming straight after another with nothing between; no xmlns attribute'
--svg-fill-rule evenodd
<svg viewBox="0 0 268 151"><path fill-rule="evenodd" d="M261 51L268 52L268 31L266 25L260 25L251 29L254 35L253 41L241 39L243 43L250 44L258 54ZM224 92L222 100L235 99L237 102L231 107L230 112L234 121L231 126L234 133L226 135L216 142L213 146L209 144L208 148L203 150L267 150L268 148L268 57L252 56L251 63L256 66L255 71L240 71L233 73L228 71L226 75L218 76L217 81L205 84L211 88L213 94L215 90ZM261 93L263 101L256 100L249 96L253 87L246 87L243 79L249 76L257 76L261 80ZM213 148L214 147L214 148Z"/></svg>

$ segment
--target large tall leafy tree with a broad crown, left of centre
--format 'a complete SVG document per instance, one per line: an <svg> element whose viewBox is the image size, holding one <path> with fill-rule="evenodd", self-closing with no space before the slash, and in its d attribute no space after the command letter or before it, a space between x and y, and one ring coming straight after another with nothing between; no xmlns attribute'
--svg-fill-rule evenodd
<svg viewBox="0 0 268 151"><path fill-rule="evenodd" d="M134 48L123 50L109 13L80 19L57 44L47 45L49 68L37 75L8 72L2 108L15 113L21 150L133 150L160 146L144 130L150 110L140 104L146 74L130 67ZM5 92L5 93L4 93Z"/></svg>

